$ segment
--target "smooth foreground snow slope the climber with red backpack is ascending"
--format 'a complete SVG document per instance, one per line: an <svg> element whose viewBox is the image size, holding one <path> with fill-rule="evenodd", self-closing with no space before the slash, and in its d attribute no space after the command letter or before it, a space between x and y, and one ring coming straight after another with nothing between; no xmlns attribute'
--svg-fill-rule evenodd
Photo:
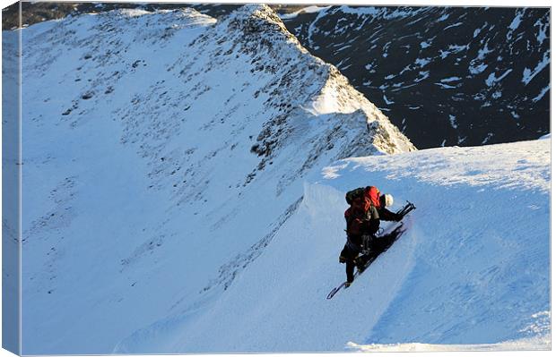
<svg viewBox="0 0 556 357"><path fill-rule="evenodd" d="M549 349L550 142L327 166L225 293L179 306L115 352ZM415 203L410 229L326 300L345 278L343 194L370 183L396 208Z"/></svg>

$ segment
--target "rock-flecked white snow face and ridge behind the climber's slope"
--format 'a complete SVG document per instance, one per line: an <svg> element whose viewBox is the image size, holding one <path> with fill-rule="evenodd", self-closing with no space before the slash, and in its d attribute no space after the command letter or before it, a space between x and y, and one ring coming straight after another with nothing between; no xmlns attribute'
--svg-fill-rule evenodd
<svg viewBox="0 0 556 357"><path fill-rule="evenodd" d="M306 177L414 149L265 5L220 21L70 16L22 41L25 354L109 353L207 312L299 207Z"/></svg>

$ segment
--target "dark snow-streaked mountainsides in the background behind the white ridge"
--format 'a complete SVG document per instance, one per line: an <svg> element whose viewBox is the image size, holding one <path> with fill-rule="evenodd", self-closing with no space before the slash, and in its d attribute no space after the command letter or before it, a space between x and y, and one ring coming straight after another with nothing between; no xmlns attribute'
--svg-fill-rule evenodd
<svg viewBox="0 0 556 357"><path fill-rule="evenodd" d="M188 4L23 3L23 26L69 13ZM241 4L190 4L221 17ZM532 140L550 130L550 8L271 4L420 149ZM4 9L4 29L19 24ZM394 59L394 60L393 60Z"/></svg>

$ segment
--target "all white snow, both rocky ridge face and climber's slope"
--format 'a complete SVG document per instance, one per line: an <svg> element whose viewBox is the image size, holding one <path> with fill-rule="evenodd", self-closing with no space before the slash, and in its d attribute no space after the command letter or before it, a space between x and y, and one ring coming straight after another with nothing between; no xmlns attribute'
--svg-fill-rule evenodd
<svg viewBox="0 0 556 357"><path fill-rule="evenodd" d="M70 16L22 41L22 353L548 333L550 139L414 151L265 5ZM343 194L367 184L413 201L411 229L326 301Z"/></svg>

